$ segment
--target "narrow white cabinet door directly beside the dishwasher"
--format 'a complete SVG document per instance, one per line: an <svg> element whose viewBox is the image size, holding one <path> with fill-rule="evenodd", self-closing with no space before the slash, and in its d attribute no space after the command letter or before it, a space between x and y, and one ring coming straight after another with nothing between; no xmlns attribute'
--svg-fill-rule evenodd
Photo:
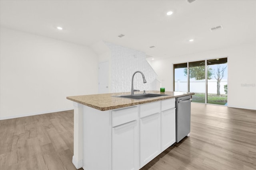
<svg viewBox="0 0 256 170"><path fill-rule="evenodd" d="M175 143L175 108L162 111L162 151Z"/></svg>

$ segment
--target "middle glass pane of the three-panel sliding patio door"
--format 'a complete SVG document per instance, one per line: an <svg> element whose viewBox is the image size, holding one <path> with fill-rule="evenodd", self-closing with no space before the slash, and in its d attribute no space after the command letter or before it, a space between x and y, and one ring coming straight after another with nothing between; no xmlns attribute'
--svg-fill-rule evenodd
<svg viewBox="0 0 256 170"><path fill-rule="evenodd" d="M188 63L189 91L194 92L192 102L205 103L205 61Z"/></svg>

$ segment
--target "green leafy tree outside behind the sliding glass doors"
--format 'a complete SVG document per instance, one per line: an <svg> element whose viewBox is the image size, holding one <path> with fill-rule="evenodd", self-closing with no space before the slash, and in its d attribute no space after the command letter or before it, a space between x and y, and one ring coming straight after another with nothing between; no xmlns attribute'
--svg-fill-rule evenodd
<svg viewBox="0 0 256 170"><path fill-rule="evenodd" d="M188 69L184 68L184 76L188 75ZM208 80L212 79L213 70L208 68ZM189 78L195 78L195 80L204 80L205 79L205 66L194 66L189 68Z"/></svg>

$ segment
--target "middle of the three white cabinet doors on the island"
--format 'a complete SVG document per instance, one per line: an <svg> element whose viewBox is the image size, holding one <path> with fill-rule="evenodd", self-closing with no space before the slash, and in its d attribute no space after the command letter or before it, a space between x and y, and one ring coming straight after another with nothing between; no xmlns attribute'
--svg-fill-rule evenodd
<svg viewBox="0 0 256 170"><path fill-rule="evenodd" d="M160 123L160 113L140 119L140 168L160 154Z"/></svg>

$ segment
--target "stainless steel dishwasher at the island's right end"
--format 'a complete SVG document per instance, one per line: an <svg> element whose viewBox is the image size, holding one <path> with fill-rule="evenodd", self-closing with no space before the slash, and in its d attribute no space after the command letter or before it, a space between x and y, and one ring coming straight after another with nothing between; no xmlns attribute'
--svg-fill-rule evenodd
<svg viewBox="0 0 256 170"><path fill-rule="evenodd" d="M176 142L190 133L191 96L176 98Z"/></svg>

